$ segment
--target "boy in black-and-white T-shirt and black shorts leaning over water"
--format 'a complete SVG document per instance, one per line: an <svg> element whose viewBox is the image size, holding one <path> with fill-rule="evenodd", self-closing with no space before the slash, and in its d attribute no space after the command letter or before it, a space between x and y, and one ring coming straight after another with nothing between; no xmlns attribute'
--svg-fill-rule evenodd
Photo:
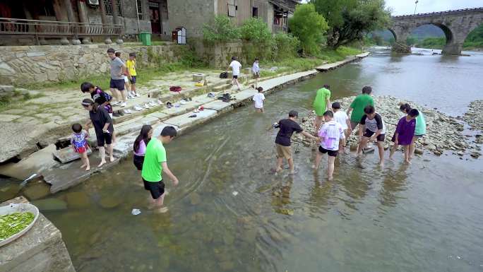
<svg viewBox="0 0 483 272"><path fill-rule="evenodd" d="M357 155L362 153L362 150L369 141L377 140L377 148L379 152L379 165L384 165L384 139L386 136L386 125L373 106L369 105L364 108L364 116L361 119L359 126L359 148L357 148Z"/></svg>

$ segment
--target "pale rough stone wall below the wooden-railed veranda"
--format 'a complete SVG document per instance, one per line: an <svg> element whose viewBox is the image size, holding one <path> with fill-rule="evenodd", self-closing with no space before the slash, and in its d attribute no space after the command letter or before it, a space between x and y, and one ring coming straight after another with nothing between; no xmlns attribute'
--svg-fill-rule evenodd
<svg viewBox="0 0 483 272"><path fill-rule="evenodd" d="M26 85L85 78L109 71L109 47L121 52L126 60L136 52L138 62L172 62L186 45L39 45L0 47L0 85ZM155 57L161 56L161 57Z"/></svg>

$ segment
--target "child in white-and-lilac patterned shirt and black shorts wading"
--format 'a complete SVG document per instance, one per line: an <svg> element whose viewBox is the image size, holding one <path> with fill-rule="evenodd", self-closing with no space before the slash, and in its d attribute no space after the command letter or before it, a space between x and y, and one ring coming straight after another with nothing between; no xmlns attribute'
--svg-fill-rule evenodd
<svg viewBox="0 0 483 272"><path fill-rule="evenodd" d="M317 169L318 165L321 163L322 154L327 153L327 177L328 180L332 180L334 174L334 161L335 157L337 157L338 150L340 149L340 143L342 143L342 146L345 146L345 133L344 129L342 129L342 125L334 120L334 114L333 112L330 112L330 110L323 113L323 119L326 122L323 124L321 130L318 131L318 137L321 139L321 145L318 146L319 152L316 155L314 169Z"/></svg>

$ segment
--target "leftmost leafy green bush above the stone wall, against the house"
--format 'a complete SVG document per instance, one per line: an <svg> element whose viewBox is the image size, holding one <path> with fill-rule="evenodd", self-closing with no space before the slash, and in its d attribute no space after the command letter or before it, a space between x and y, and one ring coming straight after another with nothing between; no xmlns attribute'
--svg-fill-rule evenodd
<svg viewBox="0 0 483 272"><path fill-rule="evenodd" d="M203 40L205 42L227 42L239 38L239 29L233 25L228 16L215 16L213 20L203 25Z"/></svg>

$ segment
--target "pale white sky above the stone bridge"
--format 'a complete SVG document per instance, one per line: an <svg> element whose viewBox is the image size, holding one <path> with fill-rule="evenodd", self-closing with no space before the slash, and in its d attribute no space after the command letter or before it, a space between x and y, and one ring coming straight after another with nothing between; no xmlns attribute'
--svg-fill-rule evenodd
<svg viewBox="0 0 483 272"><path fill-rule="evenodd" d="M415 0L386 0L386 6L392 8L393 16L415 13ZM419 0L416 13L479 7L483 7L482 0Z"/></svg>

